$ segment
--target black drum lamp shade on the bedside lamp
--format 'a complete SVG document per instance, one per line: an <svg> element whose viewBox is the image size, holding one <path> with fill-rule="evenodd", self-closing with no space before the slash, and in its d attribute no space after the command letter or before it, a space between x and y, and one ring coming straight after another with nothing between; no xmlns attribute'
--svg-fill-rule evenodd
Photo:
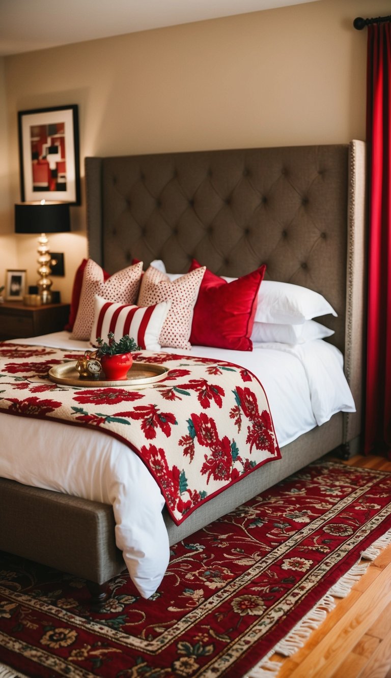
<svg viewBox="0 0 391 678"><path fill-rule="evenodd" d="M65 233L71 231L69 203L47 201L15 205L15 233Z"/></svg>

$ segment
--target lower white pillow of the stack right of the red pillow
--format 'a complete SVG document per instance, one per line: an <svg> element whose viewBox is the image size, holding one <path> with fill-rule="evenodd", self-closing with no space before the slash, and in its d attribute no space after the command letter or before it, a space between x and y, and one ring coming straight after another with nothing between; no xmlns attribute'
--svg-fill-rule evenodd
<svg viewBox="0 0 391 678"><path fill-rule="evenodd" d="M330 337L332 334L334 334L334 330L329 330L329 327L324 327L315 320L306 320L300 325L254 323L251 340L258 343L304 344L313 339Z"/></svg>

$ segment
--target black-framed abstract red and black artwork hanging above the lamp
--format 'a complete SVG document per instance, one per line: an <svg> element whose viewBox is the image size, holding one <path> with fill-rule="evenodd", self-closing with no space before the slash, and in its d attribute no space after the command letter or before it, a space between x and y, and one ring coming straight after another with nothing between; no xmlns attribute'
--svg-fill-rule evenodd
<svg viewBox="0 0 391 678"><path fill-rule="evenodd" d="M77 104L18 111L22 202L80 205Z"/></svg>

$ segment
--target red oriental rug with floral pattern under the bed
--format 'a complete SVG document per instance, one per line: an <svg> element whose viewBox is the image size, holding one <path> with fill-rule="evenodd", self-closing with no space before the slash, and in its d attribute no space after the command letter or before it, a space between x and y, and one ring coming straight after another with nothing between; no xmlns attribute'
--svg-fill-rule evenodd
<svg viewBox="0 0 391 678"><path fill-rule="evenodd" d="M83 580L1 554L0 677L262 675L390 542L390 514L389 473L312 464L176 544L149 600L115 578L100 612Z"/></svg>

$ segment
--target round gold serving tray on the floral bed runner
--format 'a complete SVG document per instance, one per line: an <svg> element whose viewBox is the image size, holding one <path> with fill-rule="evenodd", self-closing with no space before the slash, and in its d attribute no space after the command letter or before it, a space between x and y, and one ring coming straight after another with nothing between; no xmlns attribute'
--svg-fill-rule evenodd
<svg viewBox="0 0 391 678"><path fill-rule="evenodd" d="M138 363L134 361L128 371L127 379L110 380L106 378L83 379L76 370L77 361L69 361L54 365L49 370L50 379L56 384L65 384L66 386L133 386L140 388L154 384L164 379L168 372L168 367L164 365L152 365L151 363ZM100 372L100 377L105 373Z"/></svg>

